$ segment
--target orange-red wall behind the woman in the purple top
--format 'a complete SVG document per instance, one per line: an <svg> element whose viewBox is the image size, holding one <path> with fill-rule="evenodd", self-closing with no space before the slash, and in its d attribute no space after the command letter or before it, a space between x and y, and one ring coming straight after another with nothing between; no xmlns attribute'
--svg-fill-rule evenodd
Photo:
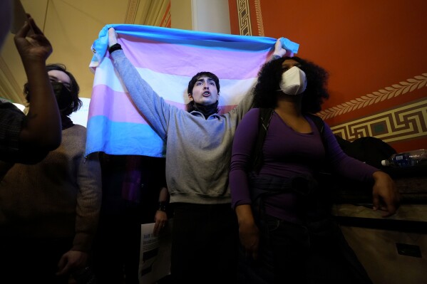
<svg viewBox="0 0 427 284"><path fill-rule="evenodd" d="M229 1L232 33L241 33L242 11L249 11L252 35L289 38L300 44L297 56L329 71L331 98L323 110L342 110L322 114L331 127L384 113L389 130L381 139L398 151L427 147L427 1L249 0L246 10L239 2ZM393 122L396 109L413 102L421 108L415 132L408 118Z"/></svg>

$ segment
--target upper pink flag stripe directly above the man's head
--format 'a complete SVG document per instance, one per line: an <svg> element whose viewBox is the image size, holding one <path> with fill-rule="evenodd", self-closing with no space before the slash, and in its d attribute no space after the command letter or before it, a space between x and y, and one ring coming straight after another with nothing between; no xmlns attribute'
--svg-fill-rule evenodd
<svg viewBox="0 0 427 284"><path fill-rule="evenodd" d="M256 78L259 67L272 53L196 48L124 35L118 39L135 67L190 78L201 70L215 73L222 80Z"/></svg>

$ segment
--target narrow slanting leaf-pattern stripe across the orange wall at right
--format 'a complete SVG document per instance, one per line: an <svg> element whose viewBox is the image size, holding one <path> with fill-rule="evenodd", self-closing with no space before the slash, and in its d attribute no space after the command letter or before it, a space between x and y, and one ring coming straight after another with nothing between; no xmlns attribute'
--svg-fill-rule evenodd
<svg viewBox="0 0 427 284"><path fill-rule="evenodd" d="M413 92L413 90L426 87L426 83L427 73L423 73L398 84L393 84L384 89L372 92L371 94L362 95L360 98L341 103L341 105L336 105L335 107L329 107L326 110L321 110L317 113L317 115L326 120L331 117L342 115L346 112L359 110L361 107L366 107L384 100L389 100L391 98L397 97L398 95Z"/></svg>

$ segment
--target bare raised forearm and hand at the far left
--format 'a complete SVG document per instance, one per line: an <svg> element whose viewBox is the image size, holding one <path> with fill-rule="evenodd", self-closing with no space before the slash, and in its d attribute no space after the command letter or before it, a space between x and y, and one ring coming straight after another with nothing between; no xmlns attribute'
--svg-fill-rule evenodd
<svg viewBox="0 0 427 284"><path fill-rule="evenodd" d="M30 26L34 34L28 36ZM62 131L61 116L46 72L46 59L52 53L52 46L30 16L14 41L31 90L31 105L22 125L20 146L24 151L31 149L31 152L47 154L61 144ZM43 158L46 154L38 156Z"/></svg>

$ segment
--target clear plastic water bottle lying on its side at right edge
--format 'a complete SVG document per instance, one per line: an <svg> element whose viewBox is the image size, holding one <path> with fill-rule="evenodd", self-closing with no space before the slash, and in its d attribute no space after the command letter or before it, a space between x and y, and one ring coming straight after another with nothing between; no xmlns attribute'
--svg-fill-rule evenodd
<svg viewBox="0 0 427 284"><path fill-rule="evenodd" d="M382 160L381 164L386 167L414 167L427 164L427 149L393 154L389 159Z"/></svg>

